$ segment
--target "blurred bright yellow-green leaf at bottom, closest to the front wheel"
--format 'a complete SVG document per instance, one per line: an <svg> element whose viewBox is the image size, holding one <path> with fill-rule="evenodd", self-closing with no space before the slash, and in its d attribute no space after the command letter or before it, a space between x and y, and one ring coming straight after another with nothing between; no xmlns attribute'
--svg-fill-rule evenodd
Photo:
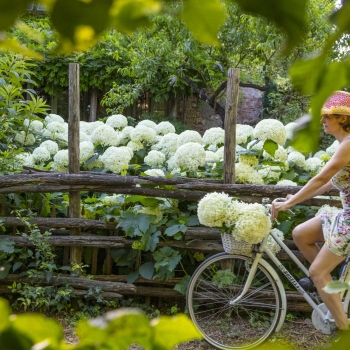
<svg viewBox="0 0 350 350"><path fill-rule="evenodd" d="M192 321L182 314L154 319L151 326L154 328L153 349L157 350L172 350L177 344L202 338Z"/></svg>

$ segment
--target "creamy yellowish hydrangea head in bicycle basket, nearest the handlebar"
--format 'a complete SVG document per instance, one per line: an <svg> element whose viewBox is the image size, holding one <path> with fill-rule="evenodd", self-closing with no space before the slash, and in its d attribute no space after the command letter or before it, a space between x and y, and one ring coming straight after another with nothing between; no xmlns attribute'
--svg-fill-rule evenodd
<svg viewBox="0 0 350 350"><path fill-rule="evenodd" d="M258 203L246 203L241 210L242 212L232 230L232 235L238 241L252 244L261 242L271 230L271 220L266 213L265 207Z"/></svg>

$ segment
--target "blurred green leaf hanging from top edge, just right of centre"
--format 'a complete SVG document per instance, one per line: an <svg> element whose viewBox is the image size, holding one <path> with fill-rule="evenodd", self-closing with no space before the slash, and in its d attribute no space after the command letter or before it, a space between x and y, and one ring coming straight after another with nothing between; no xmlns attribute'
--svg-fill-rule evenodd
<svg viewBox="0 0 350 350"><path fill-rule="evenodd" d="M218 44L218 31L226 18L219 0L186 0L180 17L196 39Z"/></svg>

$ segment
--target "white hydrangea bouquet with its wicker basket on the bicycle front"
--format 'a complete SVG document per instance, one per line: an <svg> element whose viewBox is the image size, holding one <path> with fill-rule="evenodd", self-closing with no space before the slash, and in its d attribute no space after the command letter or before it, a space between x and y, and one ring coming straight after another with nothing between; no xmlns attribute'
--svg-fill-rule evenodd
<svg viewBox="0 0 350 350"><path fill-rule="evenodd" d="M221 232L227 253L251 252L271 230L266 208L258 203L244 203L225 193L208 193L198 203L198 219L202 225Z"/></svg>

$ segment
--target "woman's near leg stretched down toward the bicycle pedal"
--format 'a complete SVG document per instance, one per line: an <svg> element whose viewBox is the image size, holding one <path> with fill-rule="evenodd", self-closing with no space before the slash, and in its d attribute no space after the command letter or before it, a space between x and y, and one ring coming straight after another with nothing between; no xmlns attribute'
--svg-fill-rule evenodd
<svg viewBox="0 0 350 350"><path fill-rule="evenodd" d="M314 282L322 301L331 312L335 324L339 329L349 329L348 316L346 315L340 300L340 294L329 294L322 288L332 281L331 271L345 258L332 253L326 245L322 247L319 254L310 266L310 277Z"/></svg>

